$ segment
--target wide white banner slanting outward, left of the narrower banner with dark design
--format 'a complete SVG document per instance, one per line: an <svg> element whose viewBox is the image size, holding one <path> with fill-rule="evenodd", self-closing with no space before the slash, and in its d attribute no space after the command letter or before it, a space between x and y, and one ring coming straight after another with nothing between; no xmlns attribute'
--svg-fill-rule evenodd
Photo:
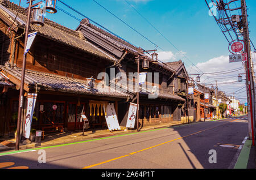
<svg viewBox="0 0 256 180"><path fill-rule="evenodd" d="M108 125L109 130L110 131L121 130L118 119L117 119L117 114L115 113L114 104L108 104L106 108L105 106L103 106L103 109L106 114L105 118L106 118L106 123Z"/></svg>

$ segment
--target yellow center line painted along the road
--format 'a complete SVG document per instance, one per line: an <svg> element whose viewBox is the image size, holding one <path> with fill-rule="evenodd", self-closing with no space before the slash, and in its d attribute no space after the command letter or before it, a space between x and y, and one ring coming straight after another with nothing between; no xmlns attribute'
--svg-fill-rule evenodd
<svg viewBox="0 0 256 180"><path fill-rule="evenodd" d="M227 122L227 123L228 123L228 122ZM226 124L226 123L224 123L224 124L222 124L222 125L225 125L225 124ZM218 126L222 126L222 125L218 125ZM205 129L205 130L195 132L195 133L193 133L193 134L185 135L185 136L183 136L183 137L180 137L180 138L177 138L177 139L170 140L170 141L168 141L168 142L164 142L164 143L157 144L157 145L154 145L154 146L151 146L151 147L145 148L145 149L141 149L141 150L136 151L136 152L131 152L131 153L129 153L128 155L125 155L125 156L120 156L120 157L112 158L111 160L106 160L106 161L100 162L100 163L98 163L98 164L93 164L93 165L90 165L90 166L85 166L85 167L84 167L84 168L82 168L82 169L93 168L93 167L95 167L95 166L98 166L98 165L101 165L101 164L105 164L105 163L107 163L107 162L111 162L111 161L114 161L114 160L118 160L119 158L123 158L123 157L131 156L131 155L134 155L135 153L142 152L142 151L146 151L146 150L148 150L148 149L158 147L159 145L163 145L163 144L171 143L171 142L174 142L175 140L179 140L179 139L183 139L183 138L188 137L188 136L192 136L192 135L195 135L195 134L199 134L200 132L204 132L204 131L210 130L210 129L215 128L215 127L218 127L218 126L210 127L210 128Z"/></svg>

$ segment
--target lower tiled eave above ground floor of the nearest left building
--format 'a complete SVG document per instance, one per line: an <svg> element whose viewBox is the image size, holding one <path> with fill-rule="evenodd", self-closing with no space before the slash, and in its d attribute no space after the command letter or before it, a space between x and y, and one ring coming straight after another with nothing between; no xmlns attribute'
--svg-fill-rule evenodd
<svg viewBox="0 0 256 180"><path fill-rule="evenodd" d="M22 76L22 71L18 67L2 67L3 72L9 76L20 81ZM10 78L11 79L11 78ZM10 80L11 81L11 80ZM15 83L15 82L13 82ZM123 92L112 91L109 87L104 87L98 90L97 88L88 89L85 85L85 80L67 78L64 76L48 74L46 72L37 72L32 70L26 70L24 83L28 85L29 88L34 89L36 86L41 87L45 90L68 92L68 93L78 93L81 95L94 95L94 96L106 96L106 97L118 97L127 98L129 95ZM19 85L19 84L16 84ZM95 84L94 87L98 87Z"/></svg>

